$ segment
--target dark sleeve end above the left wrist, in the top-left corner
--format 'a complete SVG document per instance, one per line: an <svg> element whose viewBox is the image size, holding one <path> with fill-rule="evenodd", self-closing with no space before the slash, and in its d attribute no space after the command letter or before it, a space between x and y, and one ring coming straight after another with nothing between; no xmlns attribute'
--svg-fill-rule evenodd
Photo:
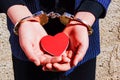
<svg viewBox="0 0 120 80"><path fill-rule="evenodd" d="M0 1L0 10L3 13L7 13L9 7L13 5L25 5L24 1L22 0L1 0Z"/></svg>

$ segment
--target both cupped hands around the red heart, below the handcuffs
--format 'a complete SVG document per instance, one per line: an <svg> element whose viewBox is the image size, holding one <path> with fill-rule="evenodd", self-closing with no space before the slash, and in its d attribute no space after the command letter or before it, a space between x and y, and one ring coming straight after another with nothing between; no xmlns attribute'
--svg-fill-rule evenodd
<svg viewBox="0 0 120 80"><path fill-rule="evenodd" d="M83 59L88 48L87 28L82 25L68 26L63 31L70 38L70 46L62 56L55 57L41 49L39 42L47 35L38 22L24 22L19 28L20 46L28 59L44 71L67 71Z"/></svg>

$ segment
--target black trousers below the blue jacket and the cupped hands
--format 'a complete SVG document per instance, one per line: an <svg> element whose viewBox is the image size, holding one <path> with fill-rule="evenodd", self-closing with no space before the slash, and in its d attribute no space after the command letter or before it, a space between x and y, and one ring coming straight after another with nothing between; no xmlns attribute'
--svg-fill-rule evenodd
<svg viewBox="0 0 120 80"><path fill-rule="evenodd" d="M96 58L78 66L72 73L44 72L34 63L21 61L13 57L15 80L95 80Z"/></svg>

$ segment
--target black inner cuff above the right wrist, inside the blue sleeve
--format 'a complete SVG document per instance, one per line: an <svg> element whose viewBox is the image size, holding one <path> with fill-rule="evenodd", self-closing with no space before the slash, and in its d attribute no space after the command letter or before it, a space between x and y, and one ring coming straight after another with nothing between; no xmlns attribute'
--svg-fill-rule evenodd
<svg viewBox="0 0 120 80"><path fill-rule="evenodd" d="M103 16L104 8L97 1L90 1L90 0L83 1L82 4L77 9L77 11L90 12L95 16L96 19L104 17Z"/></svg>

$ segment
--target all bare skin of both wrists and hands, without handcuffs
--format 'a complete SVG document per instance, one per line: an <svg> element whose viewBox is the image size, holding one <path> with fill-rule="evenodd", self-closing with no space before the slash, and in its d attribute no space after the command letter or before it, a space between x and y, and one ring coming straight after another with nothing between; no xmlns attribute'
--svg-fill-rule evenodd
<svg viewBox="0 0 120 80"><path fill-rule="evenodd" d="M32 16L32 13L26 6L14 5L8 9L7 15L15 24L26 16ZM78 12L75 17L86 21L91 26L95 21L94 15L89 12ZM71 21L70 23L75 24L78 22ZM70 46L59 57L45 54L42 51L39 41L48 34L38 22L26 21L20 25L18 32L19 43L25 55L36 66L42 65L44 71L67 71L84 58L88 49L88 31L83 25L66 26L63 32L70 38Z"/></svg>

